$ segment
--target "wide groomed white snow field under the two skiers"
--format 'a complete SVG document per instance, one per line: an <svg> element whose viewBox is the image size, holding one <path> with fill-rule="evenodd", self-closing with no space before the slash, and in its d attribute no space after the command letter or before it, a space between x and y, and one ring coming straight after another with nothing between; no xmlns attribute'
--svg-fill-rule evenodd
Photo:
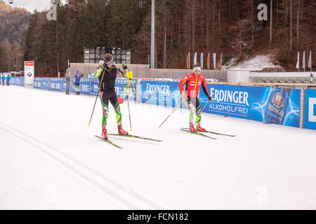
<svg viewBox="0 0 316 224"><path fill-rule="evenodd" d="M316 209L315 131L131 103L132 134L100 134L95 97L0 86L0 209ZM116 133L110 107L108 132ZM127 104L121 105L129 130Z"/></svg>

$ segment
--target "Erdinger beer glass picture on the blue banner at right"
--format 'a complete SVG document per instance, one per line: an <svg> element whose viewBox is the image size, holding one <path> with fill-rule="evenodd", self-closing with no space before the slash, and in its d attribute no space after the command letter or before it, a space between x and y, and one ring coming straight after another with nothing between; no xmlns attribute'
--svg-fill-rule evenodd
<svg viewBox="0 0 316 224"><path fill-rule="evenodd" d="M265 109L265 123L283 125L291 89L273 88L270 92L267 108Z"/></svg>

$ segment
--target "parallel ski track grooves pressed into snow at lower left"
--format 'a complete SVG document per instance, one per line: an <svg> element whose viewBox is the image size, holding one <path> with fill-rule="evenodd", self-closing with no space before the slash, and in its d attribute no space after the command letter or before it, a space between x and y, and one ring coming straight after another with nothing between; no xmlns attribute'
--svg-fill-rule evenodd
<svg viewBox="0 0 316 224"><path fill-rule="evenodd" d="M1 127L2 126L2 127ZM19 140L24 141L25 143L29 144L30 146L36 148L41 153L44 153L46 156L51 158L53 161L57 162L58 164L62 165L62 167L67 168L72 173L79 176L81 179L84 179L88 183L90 183L95 188L98 188L101 192L105 193L105 195L108 195L114 200L117 200L121 204L126 205L129 209L143 209L143 207L139 207L133 202L130 202L124 196L119 195L118 193L115 193L114 190L111 190L110 188L106 187L102 183L99 183L100 181L93 179L89 177L89 174L85 174L86 172L93 174L93 176L98 176L98 178L102 179L103 181L110 183L111 186L114 186L114 188L118 188L119 191L124 191L125 194L129 195L130 197L133 197L137 201L141 202L143 205L145 205L146 209L164 209L161 206L155 204L154 202L148 200L147 198L133 192L133 190L124 190L124 186L122 186L120 183L117 183L116 181L110 179L108 176L105 176L104 174L100 174L100 172L96 171L95 169L89 167L88 165L85 165L83 162L80 162L79 160L70 157L70 155L67 155L65 153L62 153L57 148L54 148L53 146L50 146L46 144L45 142L36 139L34 137L29 136L28 134L16 130L13 127L10 127L4 123L0 122L0 128L1 130L4 130L4 132L11 134L13 137L16 137ZM25 138L27 137L27 138ZM32 140L30 140L32 139ZM55 153L58 153L59 155L53 155L51 151L55 151ZM78 165L80 168L84 168L85 172L82 172L79 170L78 167L75 167L74 165L71 165L70 162L66 162L65 159L70 160L70 162L74 163L75 165ZM139 204L139 203L137 203Z"/></svg>

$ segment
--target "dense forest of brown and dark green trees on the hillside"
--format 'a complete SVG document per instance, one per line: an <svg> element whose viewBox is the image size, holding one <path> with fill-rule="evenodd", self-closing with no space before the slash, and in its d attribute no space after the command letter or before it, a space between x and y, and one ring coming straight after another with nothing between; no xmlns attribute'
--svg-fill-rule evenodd
<svg viewBox="0 0 316 224"><path fill-rule="evenodd" d="M148 63L150 0L52 2L57 4L57 21L48 21L47 11L35 11L25 35L23 57L36 62L37 74L56 76L67 68L67 59L84 62L84 46L131 48L133 64ZM272 54L291 71L298 50L316 53L315 0L156 0L155 3L158 68L184 69L187 52L192 56L193 52L204 55L217 52L223 53L224 62L232 57L242 60L256 54ZM257 18L260 3L268 6L267 21ZM4 53L0 49L0 55Z"/></svg>

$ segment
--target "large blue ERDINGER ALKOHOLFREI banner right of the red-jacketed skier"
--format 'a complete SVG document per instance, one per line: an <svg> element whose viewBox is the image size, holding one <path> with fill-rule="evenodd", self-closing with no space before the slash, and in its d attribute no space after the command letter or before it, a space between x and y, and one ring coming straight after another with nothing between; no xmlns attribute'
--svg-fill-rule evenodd
<svg viewBox="0 0 316 224"><path fill-rule="evenodd" d="M206 113L298 127L300 91L240 85L208 84L212 101ZM201 107L207 102L201 92Z"/></svg>

